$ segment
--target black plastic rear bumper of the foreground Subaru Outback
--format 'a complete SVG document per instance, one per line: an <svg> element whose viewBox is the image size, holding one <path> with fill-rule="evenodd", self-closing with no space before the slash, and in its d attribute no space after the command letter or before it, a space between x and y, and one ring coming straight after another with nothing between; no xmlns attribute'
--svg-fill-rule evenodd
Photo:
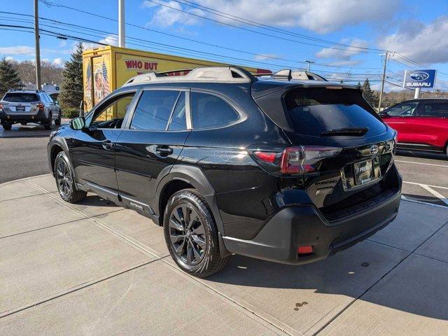
<svg viewBox="0 0 448 336"><path fill-rule="evenodd" d="M286 264L314 262L353 246L391 223L398 214L400 198L398 190L384 202L331 223L313 205L286 207L253 239L223 237L223 241L231 253ZM299 246L308 245L313 246L312 254L297 254Z"/></svg>

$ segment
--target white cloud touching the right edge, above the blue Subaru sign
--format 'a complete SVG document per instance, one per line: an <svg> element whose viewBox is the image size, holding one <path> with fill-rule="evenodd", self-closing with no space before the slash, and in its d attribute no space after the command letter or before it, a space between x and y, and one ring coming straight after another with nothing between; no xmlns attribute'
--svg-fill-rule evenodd
<svg viewBox="0 0 448 336"><path fill-rule="evenodd" d="M428 25L407 21L395 34L379 41L380 48L399 52L416 62L433 64L448 62L448 16L441 16Z"/></svg>

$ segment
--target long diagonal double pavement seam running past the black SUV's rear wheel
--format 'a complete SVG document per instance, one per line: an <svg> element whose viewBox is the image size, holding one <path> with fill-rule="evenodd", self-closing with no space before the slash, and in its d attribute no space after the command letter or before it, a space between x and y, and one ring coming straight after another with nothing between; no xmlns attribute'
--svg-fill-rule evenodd
<svg viewBox="0 0 448 336"><path fill-rule="evenodd" d="M41 188L40 186L36 186L34 183L31 183L29 181L26 181L29 186L36 188L38 190L45 190L44 188ZM63 202L62 200L59 199L59 197L55 197L51 194L47 194L48 197L52 197L54 200L57 200L59 203L63 204L66 207L69 207L70 209L72 209L73 211L78 212L79 214L82 214L83 216L85 216L86 218L89 218L91 221L94 221L95 223L101 225L103 228L105 228L106 230L108 230L109 232L111 232L113 235L118 235L119 237L125 239L126 241L128 241L130 244L138 247L141 250L144 250L148 253L151 253L151 251L146 250L146 248L142 247L140 244L134 242L134 239L130 238L130 237L125 237L127 235L122 235L119 232L116 232L115 230L109 228L108 226L102 224L102 223L98 223L94 218L90 218L87 214L85 214L83 211L80 211L78 209L75 209L74 207L71 207L69 204L66 204L66 202ZM151 253L151 255L155 258L157 258L157 260L162 260L162 262L165 262L167 265L169 265L170 267L173 267L174 269L178 269L177 267L174 267L173 265L171 265L169 262L167 262L166 260L163 260L162 258L160 258L158 255L155 255L153 253ZM179 269L178 269L179 270ZM226 300L232 302L233 304L237 304L238 307L241 307L241 309L244 309L244 311L247 311L255 316L257 316L258 318L260 318L262 321L264 321L265 323L269 323L269 325L273 325L276 329L281 330L281 332L284 332L288 335L302 335L300 333L297 334L296 330L293 330L293 332L287 332L286 329L292 329L290 328L288 325L284 325L283 323L281 323L280 321L277 321L276 318L269 316L270 318L273 318L277 323L282 324L282 327L279 327L278 325L272 323L271 321L268 321L266 318L263 318L262 316L260 316L259 314L255 313L255 311L248 309L247 307L244 307L243 305L239 304L238 302L236 302L235 300L233 300L232 298L228 297L228 295L225 295L221 292L219 292L218 290L211 288L209 285L207 285L206 283L203 283L202 281L199 281L197 278L195 278L194 276L191 276L190 274L187 274L186 272L182 272L183 274L186 274L187 276L190 276L191 279L194 279L195 281L201 283L203 286L209 288L210 290L214 291L214 293L221 295L221 297L225 297ZM247 315L247 314L246 314ZM249 316L249 315L248 315Z"/></svg>

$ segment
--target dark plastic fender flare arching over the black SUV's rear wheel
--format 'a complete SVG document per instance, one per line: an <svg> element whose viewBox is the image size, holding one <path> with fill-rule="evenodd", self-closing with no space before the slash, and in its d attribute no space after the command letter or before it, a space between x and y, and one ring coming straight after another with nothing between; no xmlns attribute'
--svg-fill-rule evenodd
<svg viewBox="0 0 448 336"><path fill-rule="evenodd" d="M162 179L160 179L157 189L155 190L155 204L158 204L158 206L160 206L161 195L165 190L165 187L171 181L180 180L189 183L190 185L195 187L195 189L202 195L202 197L205 198L205 200L209 204L211 213L215 218L218 232L220 233L220 235L225 236L223 221L221 219L221 214L219 213L218 205L216 204L216 193L213 186L211 186L209 179L207 179L207 176L205 176L204 172L202 172L199 167L190 165L174 165L167 170L167 174L163 176ZM163 216L163 214L159 214L159 216Z"/></svg>

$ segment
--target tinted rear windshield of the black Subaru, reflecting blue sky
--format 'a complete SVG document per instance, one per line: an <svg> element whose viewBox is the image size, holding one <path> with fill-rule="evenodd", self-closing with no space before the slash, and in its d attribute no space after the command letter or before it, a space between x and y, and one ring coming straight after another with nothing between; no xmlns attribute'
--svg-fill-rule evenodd
<svg viewBox="0 0 448 336"><path fill-rule="evenodd" d="M369 136L386 131L379 118L367 111L370 107L358 90L296 88L284 101L294 130L300 134L318 136L347 127L368 127Z"/></svg>

